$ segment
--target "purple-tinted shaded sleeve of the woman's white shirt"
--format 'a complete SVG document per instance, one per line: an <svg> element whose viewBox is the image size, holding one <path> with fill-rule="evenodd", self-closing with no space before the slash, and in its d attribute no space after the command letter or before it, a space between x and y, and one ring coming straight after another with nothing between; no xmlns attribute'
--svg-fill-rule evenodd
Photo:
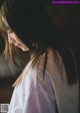
<svg viewBox="0 0 80 113"><path fill-rule="evenodd" d="M50 75L43 68L37 71L34 88L31 87L28 101L25 101L24 113L56 113L57 106ZM27 100L27 99L26 99Z"/></svg>

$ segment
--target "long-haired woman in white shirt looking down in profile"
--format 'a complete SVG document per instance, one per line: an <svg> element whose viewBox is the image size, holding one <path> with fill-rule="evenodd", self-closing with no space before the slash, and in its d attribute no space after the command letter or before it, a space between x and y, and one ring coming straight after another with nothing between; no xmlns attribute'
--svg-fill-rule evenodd
<svg viewBox="0 0 80 113"><path fill-rule="evenodd" d="M0 14L5 55L13 58L11 45L29 55L13 85L8 113L78 113L74 54L58 36L41 1L6 0Z"/></svg>

